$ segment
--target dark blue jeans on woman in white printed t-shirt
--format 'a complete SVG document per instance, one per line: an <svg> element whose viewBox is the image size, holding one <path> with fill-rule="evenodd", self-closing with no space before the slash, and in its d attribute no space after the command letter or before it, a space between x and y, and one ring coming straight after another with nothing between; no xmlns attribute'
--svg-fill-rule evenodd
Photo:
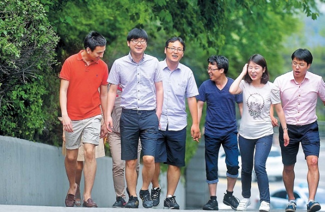
<svg viewBox="0 0 325 212"><path fill-rule="evenodd" d="M251 174L254 166L259 189L259 201L269 202L268 177L265 164L272 147L272 139L273 134L257 139L246 139L239 135L238 143L241 155L241 195L244 198L249 198L251 195Z"/></svg>

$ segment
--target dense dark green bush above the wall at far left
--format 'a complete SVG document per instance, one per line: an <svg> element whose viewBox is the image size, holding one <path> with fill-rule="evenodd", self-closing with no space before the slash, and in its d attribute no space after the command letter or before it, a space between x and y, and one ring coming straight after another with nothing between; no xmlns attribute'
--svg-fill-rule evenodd
<svg viewBox="0 0 325 212"><path fill-rule="evenodd" d="M0 133L34 140L52 113L44 76L55 76L58 37L39 1L3 0L0 10Z"/></svg>

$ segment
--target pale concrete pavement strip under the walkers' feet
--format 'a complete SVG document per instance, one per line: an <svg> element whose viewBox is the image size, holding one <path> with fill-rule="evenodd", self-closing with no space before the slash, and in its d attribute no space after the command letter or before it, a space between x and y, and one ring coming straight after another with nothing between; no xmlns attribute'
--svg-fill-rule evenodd
<svg viewBox="0 0 325 212"><path fill-rule="evenodd" d="M202 210L201 208L197 209L180 209L178 211L186 211L186 212L191 212L191 211L197 211L197 210ZM98 207L98 208L86 208L86 207L62 207L62 206L35 206L35 205L6 205L6 204L0 204L0 212L137 212L137 211L152 211L152 212L166 212L168 210L166 209L154 209L154 208L143 208L140 206L140 208L137 209L131 209L131 208L105 208L105 207ZM232 209L222 209L218 210L220 212L222 211L234 211ZM256 210L247 210L246 212L250 211L258 211ZM272 210L271 212L283 212L284 209L276 209ZM296 210L296 212L305 212L306 210L304 209L299 209Z"/></svg>

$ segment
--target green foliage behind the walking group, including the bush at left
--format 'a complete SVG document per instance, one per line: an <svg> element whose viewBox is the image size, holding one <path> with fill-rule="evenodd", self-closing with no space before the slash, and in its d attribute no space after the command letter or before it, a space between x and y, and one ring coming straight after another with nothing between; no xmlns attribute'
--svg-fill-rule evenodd
<svg viewBox="0 0 325 212"><path fill-rule="evenodd" d="M198 86L208 79L212 54L228 58L232 78L249 56L261 54L274 79L283 70L283 43L302 30L295 14L316 19L316 2L325 0L2 0L0 133L61 144L57 74L91 30L106 38L109 66L128 53L126 35L140 27L149 35L146 53L159 60L167 39L185 41L181 63L193 70ZM186 161L196 148L187 140Z"/></svg>

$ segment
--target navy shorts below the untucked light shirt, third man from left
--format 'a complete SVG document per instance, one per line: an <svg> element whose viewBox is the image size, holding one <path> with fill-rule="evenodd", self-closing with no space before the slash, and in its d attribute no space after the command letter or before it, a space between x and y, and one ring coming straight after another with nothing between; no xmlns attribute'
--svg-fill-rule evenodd
<svg viewBox="0 0 325 212"><path fill-rule="evenodd" d="M186 127L178 131L159 130L154 162L177 167L185 166Z"/></svg>

